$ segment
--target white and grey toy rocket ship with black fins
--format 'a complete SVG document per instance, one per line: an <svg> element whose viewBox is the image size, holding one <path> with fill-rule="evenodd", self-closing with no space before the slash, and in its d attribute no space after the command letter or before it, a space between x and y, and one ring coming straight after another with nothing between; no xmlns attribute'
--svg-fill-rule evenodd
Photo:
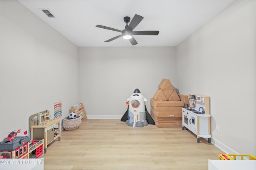
<svg viewBox="0 0 256 170"><path fill-rule="evenodd" d="M145 103L147 99L140 93L139 89L135 89L132 96L127 99L128 110L124 113L121 121L126 121L128 126L144 127L148 124L155 124L150 114L146 111ZM146 120L150 119L150 123ZM152 123L153 121L153 123Z"/></svg>

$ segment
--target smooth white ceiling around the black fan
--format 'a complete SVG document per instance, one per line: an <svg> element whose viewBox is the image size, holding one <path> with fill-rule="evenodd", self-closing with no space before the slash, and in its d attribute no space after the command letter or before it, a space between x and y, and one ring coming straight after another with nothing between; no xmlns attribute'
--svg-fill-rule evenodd
<svg viewBox="0 0 256 170"><path fill-rule="evenodd" d="M134 31L159 30L159 35L134 35L134 47L176 46L234 0L18 0L78 47L131 47L121 33L124 17L144 19ZM47 9L55 16L42 12Z"/></svg>

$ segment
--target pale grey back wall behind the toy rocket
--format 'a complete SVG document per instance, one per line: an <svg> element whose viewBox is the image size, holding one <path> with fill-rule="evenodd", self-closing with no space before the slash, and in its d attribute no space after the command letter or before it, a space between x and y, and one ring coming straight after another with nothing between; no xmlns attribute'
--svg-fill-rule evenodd
<svg viewBox="0 0 256 170"><path fill-rule="evenodd" d="M79 47L79 101L88 117L122 117L138 88L148 99L163 78L176 86L175 47ZM117 116L116 116L117 115Z"/></svg>

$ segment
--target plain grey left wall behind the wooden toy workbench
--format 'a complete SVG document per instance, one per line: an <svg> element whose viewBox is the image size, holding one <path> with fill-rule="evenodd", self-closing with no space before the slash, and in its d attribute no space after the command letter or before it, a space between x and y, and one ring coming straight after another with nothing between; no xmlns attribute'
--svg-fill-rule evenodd
<svg viewBox="0 0 256 170"><path fill-rule="evenodd" d="M0 1L0 139L29 117L78 102L78 48L16 0ZM1 141L1 140L0 140Z"/></svg>

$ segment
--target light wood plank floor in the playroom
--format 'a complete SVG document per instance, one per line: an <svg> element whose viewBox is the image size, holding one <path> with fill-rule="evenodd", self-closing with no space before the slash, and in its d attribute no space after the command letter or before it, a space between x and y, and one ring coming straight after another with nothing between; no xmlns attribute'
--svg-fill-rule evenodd
<svg viewBox="0 0 256 170"><path fill-rule="evenodd" d="M181 127L129 127L120 119L82 120L44 154L44 170L208 170L222 154Z"/></svg>

